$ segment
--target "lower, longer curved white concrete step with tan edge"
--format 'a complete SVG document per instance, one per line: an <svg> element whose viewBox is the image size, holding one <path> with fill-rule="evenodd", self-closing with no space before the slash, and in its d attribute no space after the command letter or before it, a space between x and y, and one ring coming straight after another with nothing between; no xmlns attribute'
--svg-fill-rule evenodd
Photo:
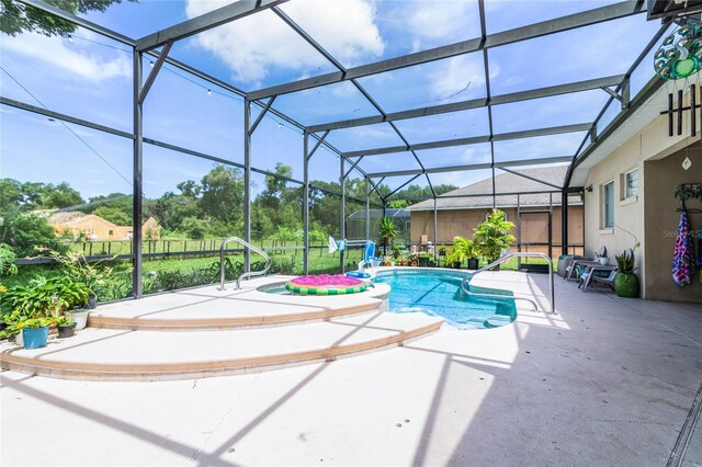
<svg viewBox="0 0 702 467"><path fill-rule="evenodd" d="M5 343L2 368L64 379L192 379L329 362L403 345L438 331L422 314L372 314L279 328L218 332L86 329L24 350Z"/></svg>

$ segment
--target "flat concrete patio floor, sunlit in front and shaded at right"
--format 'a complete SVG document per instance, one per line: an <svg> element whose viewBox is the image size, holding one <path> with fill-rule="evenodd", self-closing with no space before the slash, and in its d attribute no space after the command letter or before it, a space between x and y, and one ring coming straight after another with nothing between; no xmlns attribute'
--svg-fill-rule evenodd
<svg viewBox="0 0 702 467"><path fill-rule="evenodd" d="M542 275L483 276L546 295ZM158 383L3 372L0 463L665 465L702 383L702 307L555 285L558 315L333 363Z"/></svg>

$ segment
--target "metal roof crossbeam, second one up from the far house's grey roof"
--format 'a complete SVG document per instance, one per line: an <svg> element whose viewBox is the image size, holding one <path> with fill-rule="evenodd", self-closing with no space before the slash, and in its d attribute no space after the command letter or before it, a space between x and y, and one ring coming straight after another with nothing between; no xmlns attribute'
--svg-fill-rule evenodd
<svg viewBox="0 0 702 467"><path fill-rule="evenodd" d="M589 132L591 127L592 127L591 123L552 126L548 128L536 128L536 129L526 129L523 132L502 133L502 134L494 135L491 138L490 138L490 135L485 135L485 136L474 136L471 138L445 139L441 141L420 143L417 145L410 145L409 147L392 146L386 148L350 151L350 152L344 152L343 157L346 159L350 159L350 158L356 158L361 156L378 156L378 155L386 155L386 153L394 153L394 152L406 152L408 150L418 151L423 149L449 148L454 146L469 146L469 145L476 145L476 144L489 143L489 141L506 141L509 139L533 138L536 136L561 135L564 133Z"/></svg>

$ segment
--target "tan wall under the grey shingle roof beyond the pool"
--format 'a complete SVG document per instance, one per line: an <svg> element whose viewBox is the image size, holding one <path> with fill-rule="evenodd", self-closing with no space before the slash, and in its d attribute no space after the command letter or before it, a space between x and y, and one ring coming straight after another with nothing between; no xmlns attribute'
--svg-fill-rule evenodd
<svg viewBox="0 0 702 467"><path fill-rule="evenodd" d="M531 210L545 208L529 208ZM522 209L522 210L529 210ZM517 208L502 208L507 214L507 220L517 224ZM485 216L490 213L490 208L475 209L442 209L437 212L437 243L452 243L453 238L461 236L473 237L473 229L485 220ZM411 214L411 241L418 243L422 236L428 236L430 241L434 237L434 213L433 210L412 210ZM561 207L553 208L553 254L561 254ZM517 237L517 227L512 229L512 235ZM582 244L582 206L570 206L568 208L568 238L569 244ZM522 216L522 242L547 242L548 221L546 215ZM512 248L517 251L517 244ZM523 248L522 251L526 251ZM547 247L529 247L529 251L548 252ZM576 253L581 249L576 248Z"/></svg>

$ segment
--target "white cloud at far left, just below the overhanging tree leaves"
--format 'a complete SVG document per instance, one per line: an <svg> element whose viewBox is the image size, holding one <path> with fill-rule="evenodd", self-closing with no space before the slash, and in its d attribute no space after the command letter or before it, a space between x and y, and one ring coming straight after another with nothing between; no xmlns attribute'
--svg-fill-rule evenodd
<svg viewBox="0 0 702 467"><path fill-rule="evenodd" d="M132 78L132 59L128 54L117 52L118 55L106 58L82 49L79 41L70 44L61 37L25 33L16 37L3 37L2 48L3 52L13 52L33 60L44 61L90 82Z"/></svg>

